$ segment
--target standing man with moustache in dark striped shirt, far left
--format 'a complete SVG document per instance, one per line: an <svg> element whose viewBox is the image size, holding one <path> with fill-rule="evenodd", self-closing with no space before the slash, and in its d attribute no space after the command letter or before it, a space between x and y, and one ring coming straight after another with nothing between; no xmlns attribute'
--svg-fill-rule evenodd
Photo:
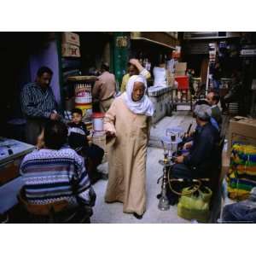
<svg viewBox="0 0 256 256"><path fill-rule="evenodd" d="M57 103L49 84L53 72L49 67L40 67L34 83L21 90L21 109L26 117L26 143L35 145L47 119L57 120Z"/></svg>

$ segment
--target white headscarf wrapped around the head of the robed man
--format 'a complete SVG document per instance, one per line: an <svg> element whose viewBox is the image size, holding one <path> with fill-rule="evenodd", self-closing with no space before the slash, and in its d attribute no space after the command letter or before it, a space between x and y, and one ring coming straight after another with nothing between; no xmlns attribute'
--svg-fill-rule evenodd
<svg viewBox="0 0 256 256"><path fill-rule="evenodd" d="M131 97L135 82L141 82L145 86L144 96L138 102L134 102ZM153 103L148 99L148 96L145 95L146 90L147 90L147 81L143 76L140 76L140 75L131 76L131 78L129 79L126 85L126 92L124 93L125 104L133 113L152 116L154 114L154 106L153 106Z"/></svg>

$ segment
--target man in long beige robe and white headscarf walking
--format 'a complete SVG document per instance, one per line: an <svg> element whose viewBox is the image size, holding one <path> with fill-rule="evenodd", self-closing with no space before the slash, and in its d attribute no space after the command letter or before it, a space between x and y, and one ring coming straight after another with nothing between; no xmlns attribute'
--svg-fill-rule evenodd
<svg viewBox="0 0 256 256"><path fill-rule="evenodd" d="M126 92L113 101L104 119L110 144L105 201L123 202L123 211L136 218L143 218L146 211L148 131L154 113L146 86L143 76L132 76Z"/></svg>

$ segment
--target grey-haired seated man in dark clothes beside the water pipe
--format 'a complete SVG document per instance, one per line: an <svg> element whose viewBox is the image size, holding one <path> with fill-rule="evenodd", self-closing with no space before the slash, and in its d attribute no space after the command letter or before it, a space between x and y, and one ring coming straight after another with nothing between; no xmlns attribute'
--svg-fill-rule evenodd
<svg viewBox="0 0 256 256"><path fill-rule="evenodd" d="M176 164L172 167L171 176L174 178L200 178L212 177L214 166L218 161L218 130L210 122L211 108L207 105L195 107L197 129L193 137L193 143L185 145L189 148L189 154L176 158ZM177 202L177 196L167 191L170 204Z"/></svg>

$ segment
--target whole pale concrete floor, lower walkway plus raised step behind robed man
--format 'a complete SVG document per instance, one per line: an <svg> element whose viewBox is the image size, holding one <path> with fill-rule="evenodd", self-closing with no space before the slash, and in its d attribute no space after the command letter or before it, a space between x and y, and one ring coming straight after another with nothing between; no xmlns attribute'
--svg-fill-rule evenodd
<svg viewBox="0 0 256 256"><path fill-rule="evenodd" d="M96 190L96 206L94 207L94 214L91 218L91 223L98 224L130 224L130 223L147 223L147 224L178 224L190 223L188 220L179 218L177 216L177 206L171 207L170 210L162 212L158 209L159 200L156 195L160 193L160 183L157 184L157 179L162 175L162 166L158 163L163 158L163 149L159 147L158 143L160 137L165 134L166 128L180 125L185 130L189 126L192 117L186 113L175 113L172 117L165 117L160 120L151 129L150 144L154 148L148 148L147 158L147 211L143 215L143 219L134 218L132 214L123 212L123 205L121 203L107 204L104 202L104 195L107 188L108 181L98 181L94 185ZM99 171L108 172L108 163L99 166Z"/></svg>

